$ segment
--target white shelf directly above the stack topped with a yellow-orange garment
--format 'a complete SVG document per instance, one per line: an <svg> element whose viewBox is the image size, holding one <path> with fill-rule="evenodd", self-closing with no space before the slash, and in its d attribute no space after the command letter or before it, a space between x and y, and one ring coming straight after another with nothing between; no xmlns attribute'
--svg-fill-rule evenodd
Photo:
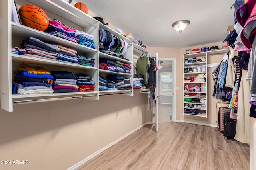
<svg viewBox="0 0 256 170"><path fill-rule="evenodd" d="M46 66L58 66L62 68L73 68L73 69L80 69L80 70L97 70L97 67L82 66L80 64L63 63L60 61L51 61L47 59L39 59L36 57L30 57L26 55L17 55L17 54L12 54L12 61L29 63L29 64L38 64L41 66L46 65Z"/></svg>

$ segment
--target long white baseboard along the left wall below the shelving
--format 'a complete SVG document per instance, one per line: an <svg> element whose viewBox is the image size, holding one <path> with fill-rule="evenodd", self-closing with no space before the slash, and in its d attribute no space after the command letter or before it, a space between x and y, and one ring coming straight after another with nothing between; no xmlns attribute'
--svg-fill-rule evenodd
<svg viewBox="0 0 256 170"><path fill-rule="evenodd" d="M77 164L75 164L74 166L68 168L68 170L75 170L76 168L78 168L79 166L81 166L82 164L84 164L85 162L87 162L88 160L94 158L95 156L97 156L98 154L100 154L101 152L103 152L104 150L112 147L113 145L115 145L116 143L118 143L119 141L121 141L122 139L124 139L125 137L128 137L130 134L134 133L135 131L137 131L138 129L142 128L143 126L145 126L148 122L140 125L139 127L137 127L136 129L130 131L129 133L127 133L126 135L120 137L119 139L116 139L116 141L108 144L106 147L98 150L97 152L91 154L90 156L88 156L87 158L85 158L84 160L81 160L80 162L78 162ZM149 123L150 124L150 123Z"/></svg>

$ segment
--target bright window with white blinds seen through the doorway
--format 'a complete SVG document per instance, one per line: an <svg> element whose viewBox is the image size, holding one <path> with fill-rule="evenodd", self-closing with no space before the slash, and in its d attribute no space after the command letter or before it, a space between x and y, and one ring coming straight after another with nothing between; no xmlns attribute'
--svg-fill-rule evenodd
<svg viewBox="0 0 256 170"><path fill-rule="evenodd" d="M172 72L160 72L160 95L172 96Z"/></svg>

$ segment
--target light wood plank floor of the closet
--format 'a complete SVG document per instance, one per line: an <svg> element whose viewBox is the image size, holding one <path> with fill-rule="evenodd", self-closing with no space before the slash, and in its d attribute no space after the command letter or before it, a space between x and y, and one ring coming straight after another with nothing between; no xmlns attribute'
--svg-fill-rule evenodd
<svg viewBox="0 0 256 170"><path fill-rule="evenodd" d="M225 140L216 127L146 125L78 170L250 170L250 147Z"/></svg>

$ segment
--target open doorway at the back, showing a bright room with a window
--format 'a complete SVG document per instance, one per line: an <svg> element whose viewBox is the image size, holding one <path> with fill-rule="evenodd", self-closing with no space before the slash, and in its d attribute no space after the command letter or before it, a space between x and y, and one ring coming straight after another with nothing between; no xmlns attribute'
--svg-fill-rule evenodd
<svg viewBox="0 0 256 170"><path fill-rule="evenodd" d="M158 62L158 123L175 122L175 59L158 58Z"/></svg>

